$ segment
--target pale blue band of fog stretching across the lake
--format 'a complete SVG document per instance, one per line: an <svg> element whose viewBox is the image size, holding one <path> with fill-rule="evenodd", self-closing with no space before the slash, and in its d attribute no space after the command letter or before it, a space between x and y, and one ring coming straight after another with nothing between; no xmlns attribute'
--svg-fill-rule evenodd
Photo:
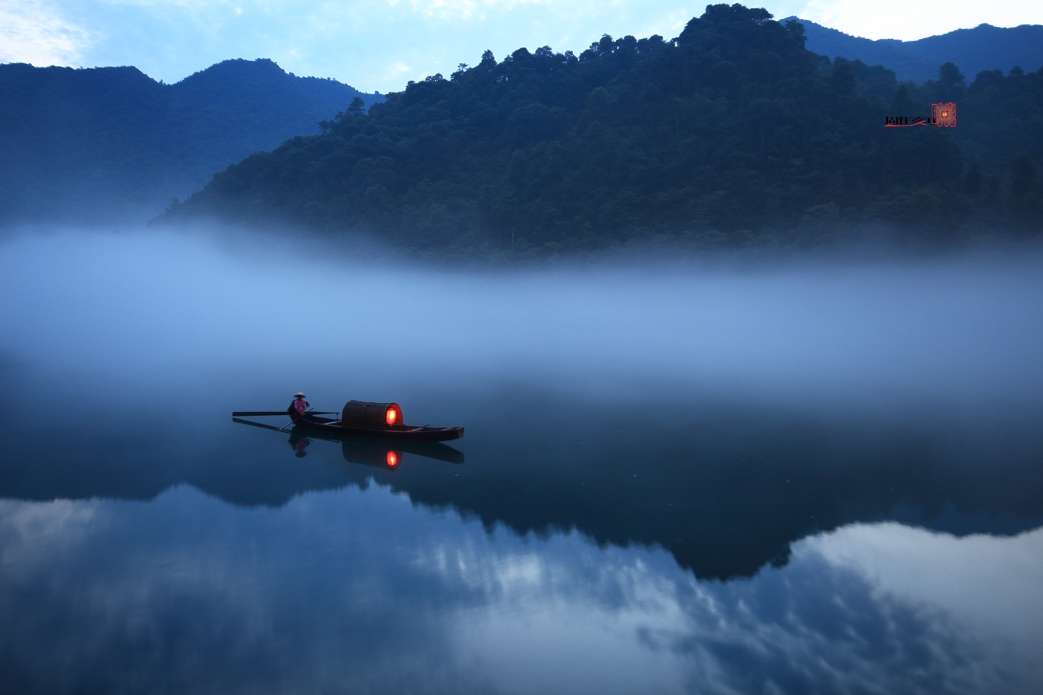
<svg viewBox="0 0 1043 695"><path fill-rule="evenodd" d="M479 272L353 265L270 238L63 230L0 242L0 362L124 393L274 392L280 405L297 389L339 403L515 382L578 398L1016 406L1043 394L1041 269L1036 254L992 254Z"/></svg>

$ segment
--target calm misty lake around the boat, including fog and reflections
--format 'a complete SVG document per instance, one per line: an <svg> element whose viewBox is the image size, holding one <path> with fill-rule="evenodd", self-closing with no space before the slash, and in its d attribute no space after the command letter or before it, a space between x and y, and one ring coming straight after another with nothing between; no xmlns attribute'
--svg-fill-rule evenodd
<svg viewBox="0 0 1043 695"><path fill-rule="evenodd" d="M1041 270L4 238L0 691L1043 692Z"/></svg>

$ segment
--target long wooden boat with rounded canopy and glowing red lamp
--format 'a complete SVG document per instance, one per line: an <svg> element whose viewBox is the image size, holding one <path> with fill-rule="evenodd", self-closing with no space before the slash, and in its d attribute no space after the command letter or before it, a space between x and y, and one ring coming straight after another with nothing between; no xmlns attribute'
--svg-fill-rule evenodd
<svg viewBox="0 0 1043 695"><path fill-rule="evenodd" d="M293 407L283 412L241 412L233 413L233 419L240 416L288 415L297 427L314 429L330 435L355 435L398 442L446 442L463 437L463 427L415 427L403 424L402 408L397 403L370 403L349 400L341 413L297 413ZM339 418L326 418L339 415ZM249 423L248 423L249 424Z"/></svg>

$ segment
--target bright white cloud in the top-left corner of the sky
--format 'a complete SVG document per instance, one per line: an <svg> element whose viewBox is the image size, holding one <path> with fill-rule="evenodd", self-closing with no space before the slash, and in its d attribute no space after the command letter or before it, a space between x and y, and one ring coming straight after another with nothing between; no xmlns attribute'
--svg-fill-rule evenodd
<svg viewBox="0 0 1043 695"><path fill-rule="evenodd" d="M0 61L78 66L97 36L40 0L0 0Z"/></svg>

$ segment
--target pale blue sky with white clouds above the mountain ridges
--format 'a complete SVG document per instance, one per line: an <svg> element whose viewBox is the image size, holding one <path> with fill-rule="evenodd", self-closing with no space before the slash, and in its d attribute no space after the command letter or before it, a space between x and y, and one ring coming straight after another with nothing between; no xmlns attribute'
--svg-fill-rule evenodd
<svg viewBox="0 0 1043 695"><path fill-rule="evenodd" d="M1041 0L772 0L869 39L921 39L983 22L1043 24ZM268 57L298 75L390 92L475 64L489 48L579 52L602 33L676 36L702 2L677 0L0 0L0 61L132 65L174 82L226 58Z"/></svg>

